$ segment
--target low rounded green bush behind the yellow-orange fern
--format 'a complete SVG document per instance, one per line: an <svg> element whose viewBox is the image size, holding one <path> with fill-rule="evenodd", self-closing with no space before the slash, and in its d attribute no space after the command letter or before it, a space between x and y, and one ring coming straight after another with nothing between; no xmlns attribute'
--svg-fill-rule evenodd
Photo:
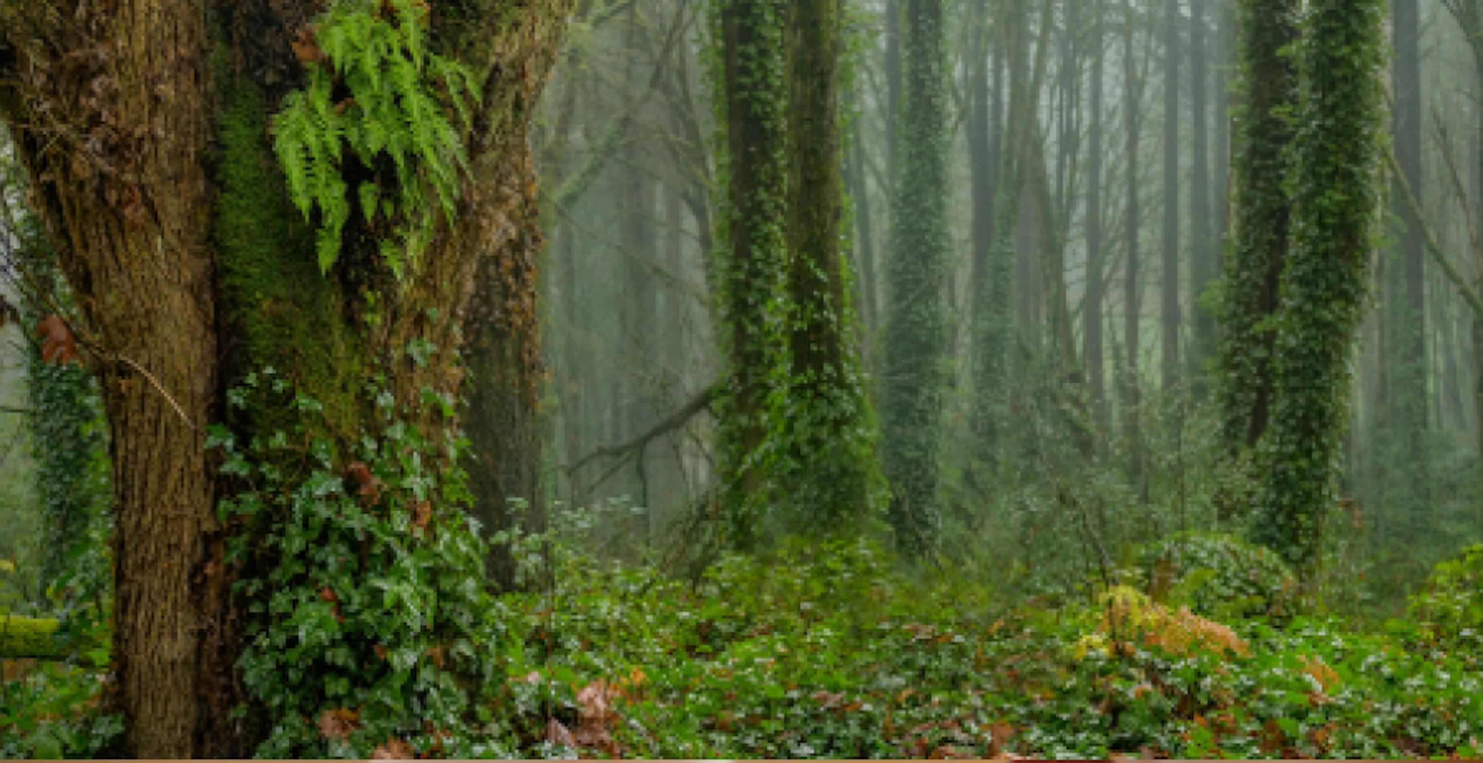
<svg viewBox="0 0 1483 763"><path fill-rule="evenodd" d="M1189 532L1148 544L1137 570L1155 599L1216 619L1289 613L1298 593L1275 553L1225 533Z"/></svg>

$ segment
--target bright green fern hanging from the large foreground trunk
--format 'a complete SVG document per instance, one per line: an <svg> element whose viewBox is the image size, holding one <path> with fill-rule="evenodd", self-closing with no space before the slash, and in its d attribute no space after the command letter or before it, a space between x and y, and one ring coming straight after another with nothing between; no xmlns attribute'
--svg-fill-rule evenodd
<svg viewBox="0 0 1483 763"><path fill-rule="evenodd" d="M305 218L319 213L316 249L326 273L353 210L368 224L399 222L412 258L432 236L435 204L452 219L466 169L457 124L469 127L479 90L469 70L429 49L426 15L415 0L331 3L314 28L325 62L307 64L308 81L274 120L289 197ZM354 188L347 150L369 172ZM396 241L384 241L381 255L399 276Z"/></svg>

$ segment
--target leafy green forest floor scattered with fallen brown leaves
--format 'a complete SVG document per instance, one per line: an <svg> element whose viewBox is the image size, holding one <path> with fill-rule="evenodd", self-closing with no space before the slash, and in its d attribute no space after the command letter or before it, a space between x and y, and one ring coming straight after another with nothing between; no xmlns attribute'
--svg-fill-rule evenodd
<svg viewBox="0 0 1483 763"><path fill-rule="evenodd" d="M1225 602L1223 621L1197 615L1219 606L1219 570L1154 597L1004 603L943 570L905 575L866 542L728 556L694 581L569 550L553 563L553 591L500 599L501 757L1483 754L1473 631L1360 630L1250 599ZM1266 613L1234 615L1253 603ZM34 739L37 717L92 705L68 671L12 662L0 710ZM19 750L4 726L6 753L71 750L80 733Z"/></svg>

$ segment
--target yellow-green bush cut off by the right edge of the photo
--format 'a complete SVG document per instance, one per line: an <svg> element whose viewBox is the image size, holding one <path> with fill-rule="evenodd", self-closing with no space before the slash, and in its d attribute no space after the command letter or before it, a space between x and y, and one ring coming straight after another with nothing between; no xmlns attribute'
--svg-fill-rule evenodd
<svg viewBox="0 0 1483 763"><path fill-rule="evenodd" d="M1410 597L1410 616L1431 642L1476 665L1483 655L1483 544L1440 562Z"/></svg>

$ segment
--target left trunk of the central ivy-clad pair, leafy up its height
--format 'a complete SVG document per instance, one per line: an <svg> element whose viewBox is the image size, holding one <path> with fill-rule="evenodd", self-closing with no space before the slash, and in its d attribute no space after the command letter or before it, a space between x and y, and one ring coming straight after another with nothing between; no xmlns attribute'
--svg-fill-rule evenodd
<svg viewBox="0 0 1483 763"><path fill-rule="evenodd" d="M783 363L787 256L787 68L780 0L721 3L725 215L719 279L730 360L721 455L731 542L749 547L767 501L764 443Z"/></svg>

